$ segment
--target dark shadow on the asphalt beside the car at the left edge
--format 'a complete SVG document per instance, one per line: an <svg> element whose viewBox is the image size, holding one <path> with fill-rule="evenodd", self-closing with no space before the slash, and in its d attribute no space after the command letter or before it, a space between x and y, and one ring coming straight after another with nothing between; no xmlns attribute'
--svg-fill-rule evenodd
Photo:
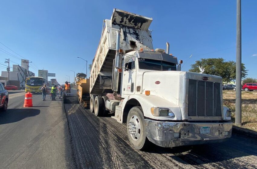
<svg viewBox="0 0 257 169"><path fill-rule="evenodd" d="M38 109L7 109L5 112L0 112L0 125L14 123L27 117L37 116L39 113L40 110Z"/></svg>

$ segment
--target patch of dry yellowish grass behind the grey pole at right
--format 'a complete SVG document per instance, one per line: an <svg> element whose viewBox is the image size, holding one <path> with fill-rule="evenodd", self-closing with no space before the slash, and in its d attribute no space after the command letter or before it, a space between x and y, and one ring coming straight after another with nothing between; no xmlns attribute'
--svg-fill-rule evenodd
<svg viewBox="0 0 257 169"><path fill-rule="evenodd" d="M236 91L223 91L223 105L232 110L235 122ZM242 127L257 131L257 91L242 91Z"/></svg>

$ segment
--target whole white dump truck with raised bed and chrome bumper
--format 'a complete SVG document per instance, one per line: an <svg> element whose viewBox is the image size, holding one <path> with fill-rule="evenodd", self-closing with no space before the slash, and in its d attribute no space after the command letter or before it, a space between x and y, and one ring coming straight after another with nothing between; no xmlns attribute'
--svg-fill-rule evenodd
<svg viewBox="0 0 257 169"><path fill-rule="evenodd" d="M104 20L90 74L90 110L127 124L136 149L222 142L231 137L222 78L181 71L177 57L152 45L152 18L114 9ZM119 132L119 131L117 131Z"/></svg>

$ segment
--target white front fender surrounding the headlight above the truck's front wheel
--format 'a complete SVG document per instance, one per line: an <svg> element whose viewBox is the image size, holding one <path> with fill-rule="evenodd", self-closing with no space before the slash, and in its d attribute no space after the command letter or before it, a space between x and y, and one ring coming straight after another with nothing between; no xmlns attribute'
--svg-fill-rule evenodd
<svg viewBox="0 0 257 169"><path fill-rule="evenodd" d="M127 120L129 110L134 106L141 106L144 116L154 120L182 120L181 109L178 105L172 103L159 96L146 96L144 94L134 94L126 97L122 101L121 121L123 123ZM151 114L151 107L162 107L170 109L175 117L153 116Z"/></svg>

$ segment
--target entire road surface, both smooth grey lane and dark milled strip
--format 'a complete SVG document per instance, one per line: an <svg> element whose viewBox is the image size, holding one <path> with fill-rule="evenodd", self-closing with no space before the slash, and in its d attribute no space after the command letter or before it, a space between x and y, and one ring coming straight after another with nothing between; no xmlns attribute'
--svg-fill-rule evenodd
<svg viewBox="0 0 257 169"><path fill-rule="evenodd" d="M257 168L255 139L233 135L219 144L138 151L112 114L96 117L41 95L23 108L24 93L9 96L0 113L0 168Z"/></svg>

